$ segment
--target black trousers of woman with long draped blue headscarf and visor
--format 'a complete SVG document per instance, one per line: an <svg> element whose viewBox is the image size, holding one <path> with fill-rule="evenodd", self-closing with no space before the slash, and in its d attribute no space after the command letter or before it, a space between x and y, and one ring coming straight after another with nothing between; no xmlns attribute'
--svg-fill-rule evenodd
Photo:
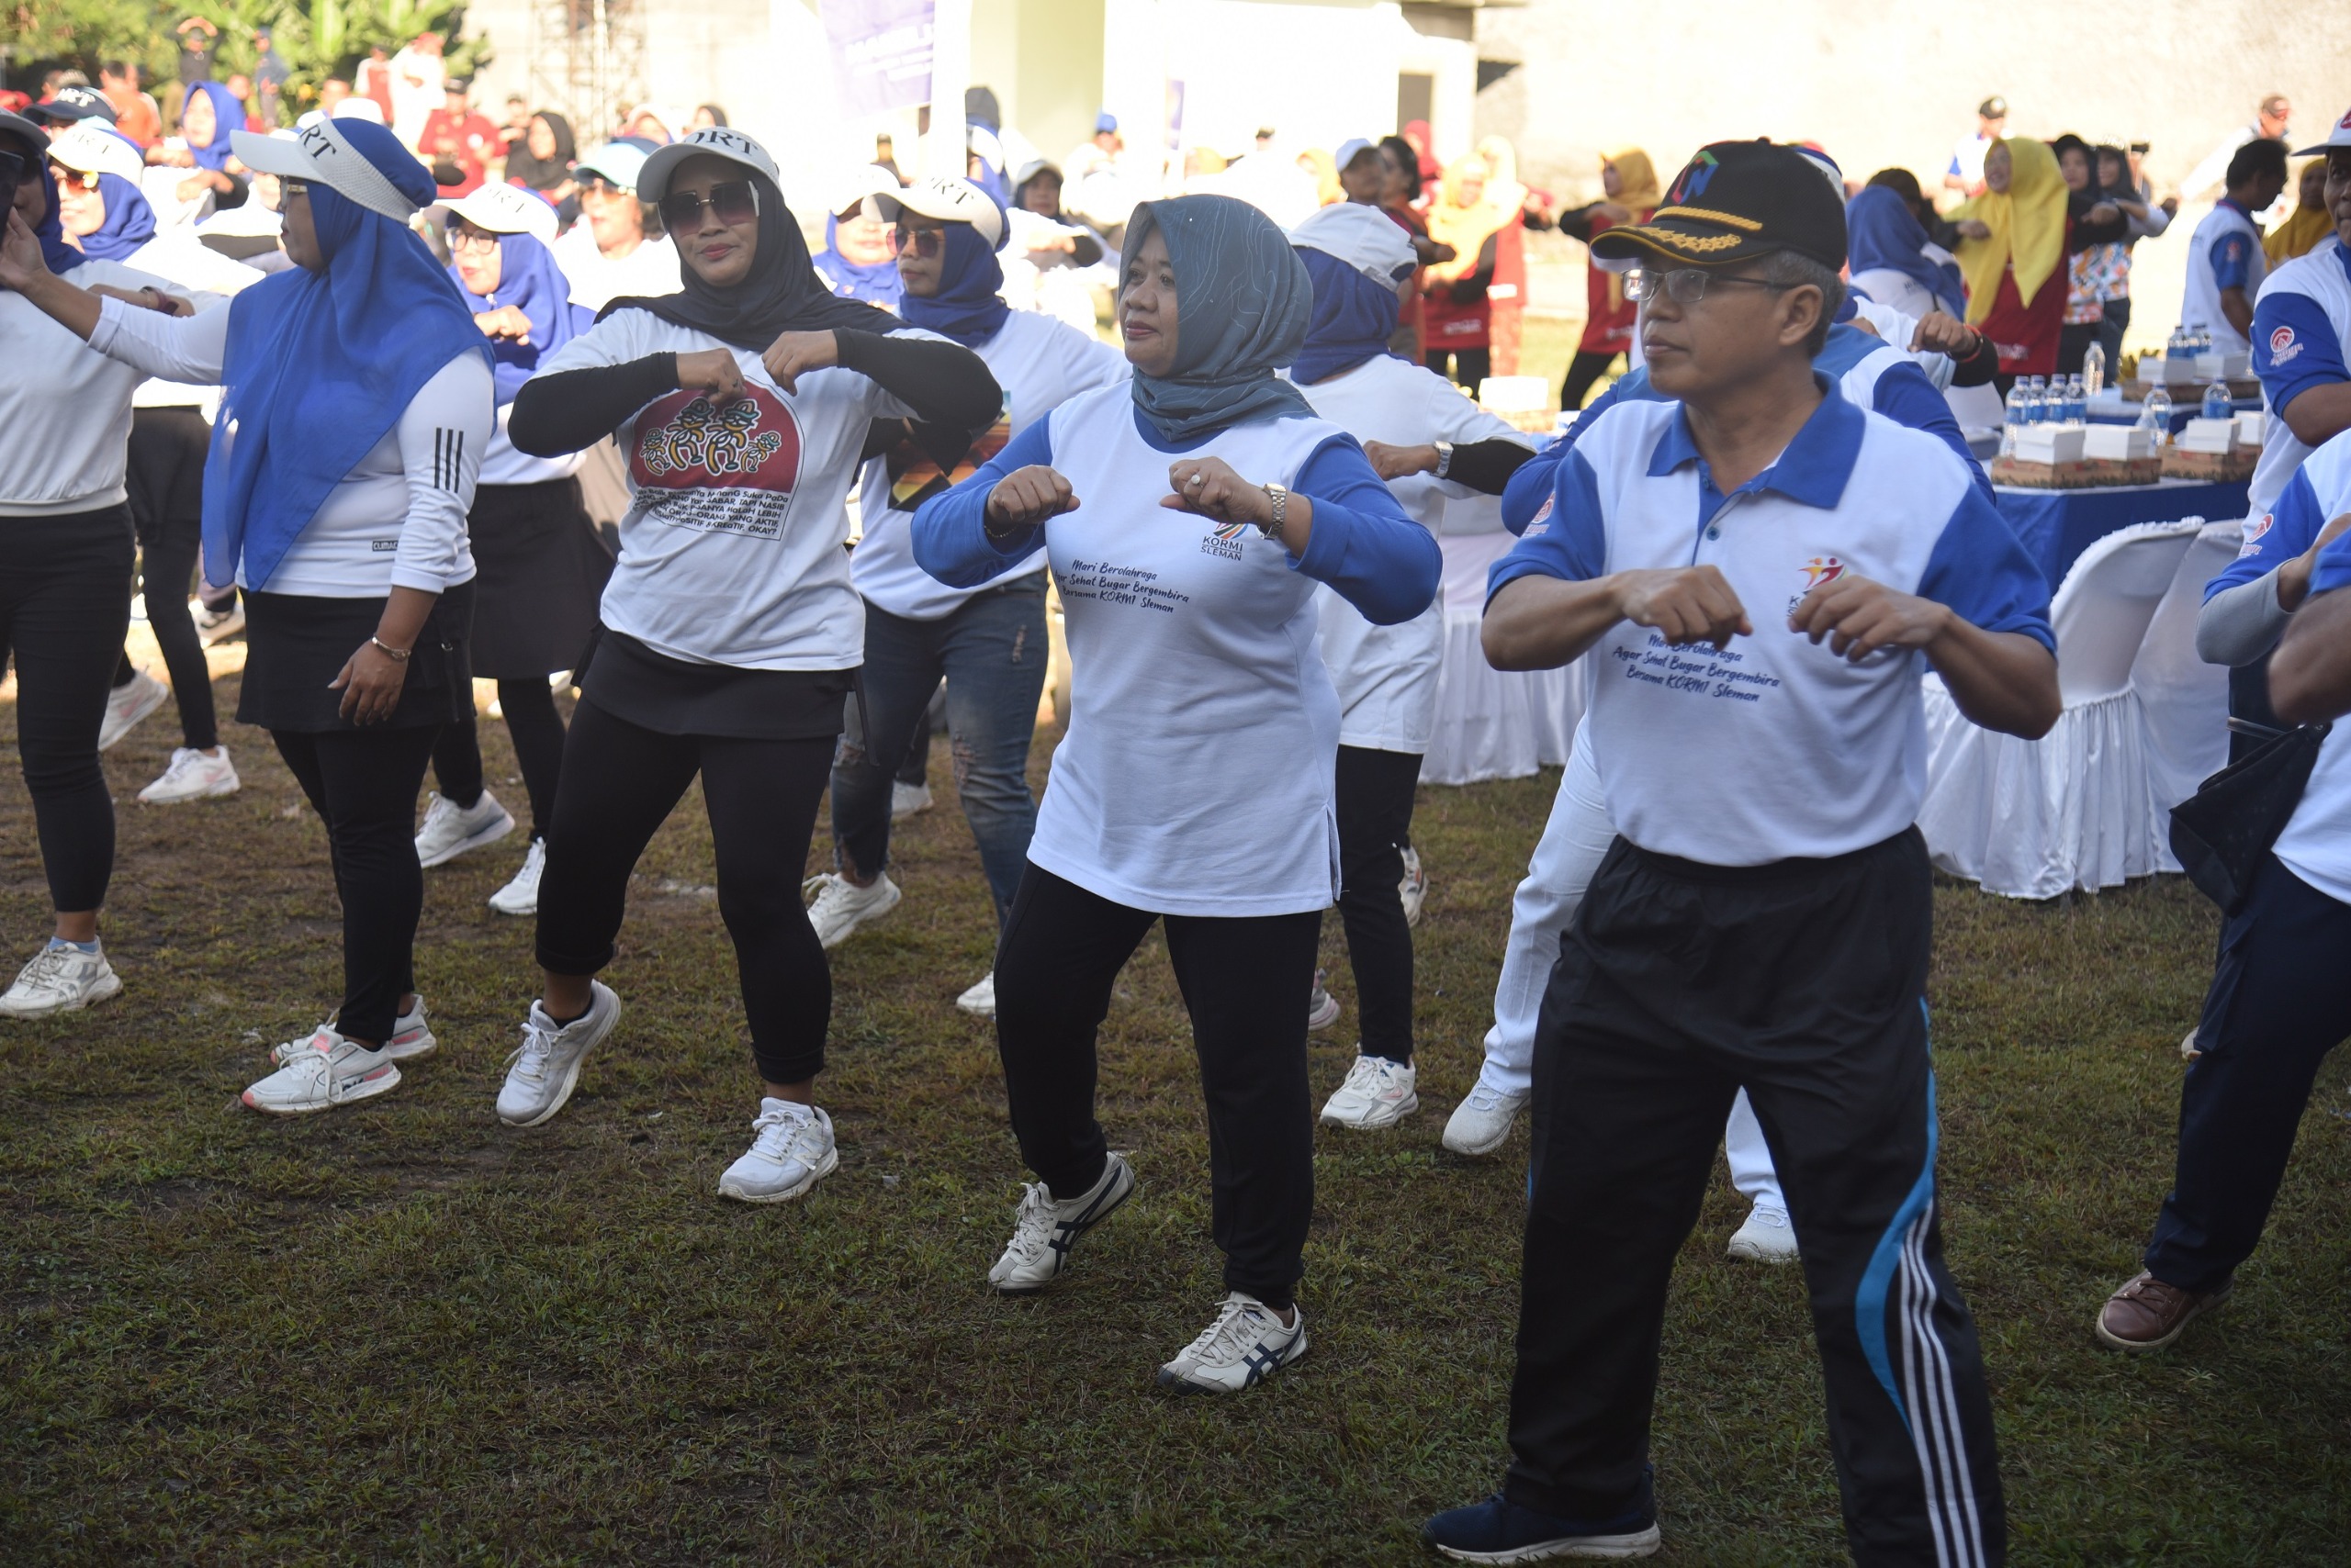
<svg viewBox="0 0 2351 1568"><path fill-rule="evenodd" d="M400 997L416 990L416 919L426 875L416 865L416 790L433 726L273 729L301 792L327 823L334 891L343 900L343 1006L336 1027L383 1044Z"/></svg>

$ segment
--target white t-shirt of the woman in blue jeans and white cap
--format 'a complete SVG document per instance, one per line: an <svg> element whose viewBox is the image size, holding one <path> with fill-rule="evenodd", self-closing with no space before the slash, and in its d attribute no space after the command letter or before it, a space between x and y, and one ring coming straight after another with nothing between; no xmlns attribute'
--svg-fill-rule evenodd
<svg viewBox="0 0 2351 1568"><path fill-rule="evenodd" d="M980 463L1004 451L1004 442L1058 404L1103 386L1121 386L1131 374L1126 355L1110 343L1093 334L1072 331L1049 315L1020 310L1013 310L1004 329L973 353L987 362L997 386L1004 388L1004 416L971 444L955 473L940 475L938 465L912 442L900 442L865 465L860 487L865 538L849 552L849 574L870 604L907 621L940 621L973 592L985 592L980 588L947 588L915 564L915 508L950 484L969 480ZM1044 571L1041 552L990 588L1032 571Z"/></svg>

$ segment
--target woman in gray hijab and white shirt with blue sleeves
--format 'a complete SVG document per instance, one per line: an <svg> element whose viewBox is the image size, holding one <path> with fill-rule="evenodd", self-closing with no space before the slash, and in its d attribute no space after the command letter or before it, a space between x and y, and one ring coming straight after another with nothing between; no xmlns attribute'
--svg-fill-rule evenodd
<svg viewBox="0 0 2351 1568"><path fill-rule="evenodd" d="M1041 1291L1136 1187L1093 1114L1096 1032L1166 919L1208 1098L1227 1295L1159 1382L1237 1392L1307 1349L1307 1020L1338 898L1338 696L1319 583L1378 625L1436 595L1436 541L1364 449L1274 371L1312 280L1223 195L1145 202L1119 327L1136 374L1023 430L915 515L915 559L971 588L1046 552L1070 628L1070 736L997 950L997 1048L1037 1173L987 1279Z"/></svg>

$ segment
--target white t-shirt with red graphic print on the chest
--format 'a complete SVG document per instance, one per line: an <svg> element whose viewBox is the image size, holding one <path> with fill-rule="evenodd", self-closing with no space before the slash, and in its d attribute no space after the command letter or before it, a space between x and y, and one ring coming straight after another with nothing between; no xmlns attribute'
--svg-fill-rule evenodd
<svg viewBox="0 0 2351 1568"><path fill-rule="evenodd" d="M691 663L851 670L865 663L865 604L849 585L842 503L865 428L907 418L907 404L851 369L809 371L785 393L759 355L651 310L604 317L538 374L710 348L734 353L743 402L712 409L675 390L614 433L632 501L604 625Z"/></svg>

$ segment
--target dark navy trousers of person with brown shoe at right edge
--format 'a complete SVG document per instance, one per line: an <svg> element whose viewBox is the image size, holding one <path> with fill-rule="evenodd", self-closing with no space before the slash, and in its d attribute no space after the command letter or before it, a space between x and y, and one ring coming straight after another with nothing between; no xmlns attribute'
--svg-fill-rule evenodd
<svg viewBox="0 0 2351 1568"><path fill-rule="evenodd" d="M2215 1291L2252 1258L2278 1201L2318 1063L2351 1034L2351 905L2269 856L2222 922L2219 964L2179 1084L2179 1157L2146 1269Z"/></svg>

